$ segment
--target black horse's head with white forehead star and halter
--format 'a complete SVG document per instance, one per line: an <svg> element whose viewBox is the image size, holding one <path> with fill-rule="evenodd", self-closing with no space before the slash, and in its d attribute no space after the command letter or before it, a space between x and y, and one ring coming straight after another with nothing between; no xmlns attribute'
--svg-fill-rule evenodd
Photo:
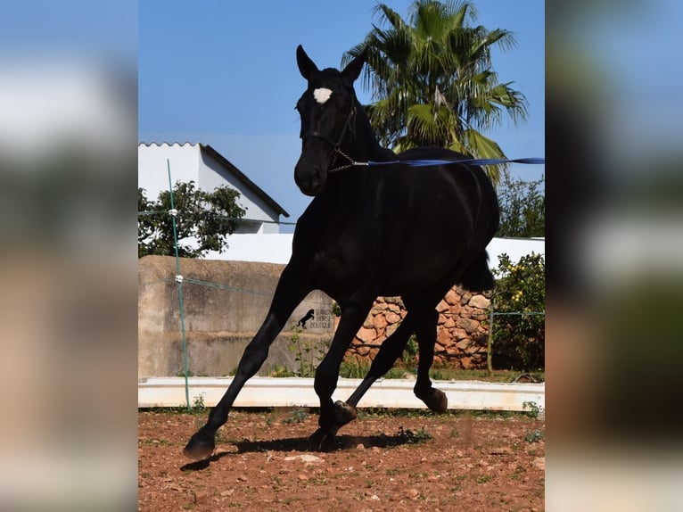
<svg viewBox="0 0 683 512"><path fill-rule="evenodd" d="M318 70L301 46L296 59L309 87L296 104L301 117L301 156L294 168L294 181L304 194L316 195L325 188L333 166L348 163L342 154L348 154L353 143L358 109L353 82L363 68L365 54L342 71Z"/></svg>

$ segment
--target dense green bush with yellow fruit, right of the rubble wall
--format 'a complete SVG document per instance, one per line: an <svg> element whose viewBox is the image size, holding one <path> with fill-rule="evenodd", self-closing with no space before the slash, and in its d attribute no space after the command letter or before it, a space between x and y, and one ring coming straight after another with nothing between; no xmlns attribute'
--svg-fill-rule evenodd
<svg viewBox="0 0 683 512"><path fill-rule="evenodd" d="M545 370L546 263L531 253L513 263L499 257L493 292L492 366L524 372ZM509 314L509 313L525 313ZM534 314L529 314L534 313Z"/></svg>

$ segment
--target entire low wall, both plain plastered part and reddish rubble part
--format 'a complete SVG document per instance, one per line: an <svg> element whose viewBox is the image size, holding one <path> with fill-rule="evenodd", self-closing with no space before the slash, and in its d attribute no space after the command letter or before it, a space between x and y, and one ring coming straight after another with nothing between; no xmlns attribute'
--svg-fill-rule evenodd
<svg viewBox="0 0 683 512"><path fill-rule="evenodd" d="M284 265L226 260L181 260L185 277L185 341L193 375L225 376L235 370L242 353L266 318ZM176 260L146 256L138 261L138 377L177 376L183 372L181 318L178 307ZM201 281L213 285L199 285ZM440 302L436 363L465 368L486 366L486 338L490 301L452 289ZM259 371L276 367L297 371L292 351L292 329L307 317L299 336L314 353L332 339L335 324L332 301L313 292L294 310ZM350 357L371 359L380 344L405 317L399 298L380 298L350 347ZM338 319L338 318L337 318Z"/></svg>

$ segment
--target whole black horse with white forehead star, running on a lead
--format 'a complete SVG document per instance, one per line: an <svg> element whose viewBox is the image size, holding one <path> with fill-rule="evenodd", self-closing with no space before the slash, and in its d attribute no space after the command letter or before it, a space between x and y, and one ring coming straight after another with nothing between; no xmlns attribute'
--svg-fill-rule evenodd
<svg viewBox="0 0 683 512"><path fill-rule="evenodd" d="M465 155L417 148L399 155L377 143L353 82L365 62L360 55L344 70L318 70L299 46L297 63L308 88L296 105L302 150L294 179L314 196L294 231L292 259L284 268L267 317L244 350L236 375L193 434L185 455L210 457L218 427L244 383L267 358L270 344L294 308L314 289L337 301L342 317L316 371L320 399L314 449L333 446L334 435L356 417L355 407L416 333L419 365L415 393L432 410L445 411L445 393L432 387L438 314L436 305L455 284L471 291L493 287L486 246L498 229L495 190L480 167L446 163L412 167L401 161L457 161ZM360 161L388 162L378 167ZM377 296L401 296L407 316L384 341L370 370L346 402L333 402L339 367L354 334Z"/></svg>

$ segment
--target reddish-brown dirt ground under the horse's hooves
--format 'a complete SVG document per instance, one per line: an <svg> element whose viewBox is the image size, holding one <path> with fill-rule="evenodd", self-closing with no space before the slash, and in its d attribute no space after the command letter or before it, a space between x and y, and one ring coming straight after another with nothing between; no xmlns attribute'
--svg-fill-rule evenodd
<svg viewBox="0 0 683 512"><path fill-rule="evenodd" d="M533 417L360 410L320 453L306 409L233 410L214 455L192 462L182 450L205 418L139 412L138 510L545 508L545 423Z"/></svg>

